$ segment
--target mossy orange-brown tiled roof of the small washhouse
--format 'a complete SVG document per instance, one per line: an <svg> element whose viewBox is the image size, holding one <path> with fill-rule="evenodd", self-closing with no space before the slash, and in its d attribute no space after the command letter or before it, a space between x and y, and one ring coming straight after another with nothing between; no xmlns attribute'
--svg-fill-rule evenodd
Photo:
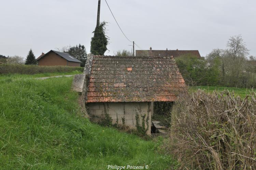
<svg viewBox="0 0 256 170"><path fill-rule="evenodd" d="M87 103L175 101L185 90L172 56L93 56L91 63Z"/></svg>

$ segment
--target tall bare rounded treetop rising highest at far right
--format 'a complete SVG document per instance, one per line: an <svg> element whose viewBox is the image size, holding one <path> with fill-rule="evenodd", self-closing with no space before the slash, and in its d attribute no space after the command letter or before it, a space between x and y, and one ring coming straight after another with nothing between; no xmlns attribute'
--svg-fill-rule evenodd
<svg viewBox="0 0 256 170"><path fill-rule="evenodd" d="M246 48L243 38L240 35L231 36L227 42L227 50L233 58L241 55L246 56L249 54L249 50Z"/></svg>

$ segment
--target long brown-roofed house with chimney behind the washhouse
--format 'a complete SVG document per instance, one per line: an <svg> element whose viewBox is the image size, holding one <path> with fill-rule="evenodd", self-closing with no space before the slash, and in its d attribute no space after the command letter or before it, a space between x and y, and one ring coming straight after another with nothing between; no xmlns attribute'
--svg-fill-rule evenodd
<svg viewBox="0 0 256 170"><path fill-rule="evenodd" d="M136 50L136 56L173 56L174 58L179 57L181 55L191 54L198 58L201 58L201 55L198 50Z"/></svg>

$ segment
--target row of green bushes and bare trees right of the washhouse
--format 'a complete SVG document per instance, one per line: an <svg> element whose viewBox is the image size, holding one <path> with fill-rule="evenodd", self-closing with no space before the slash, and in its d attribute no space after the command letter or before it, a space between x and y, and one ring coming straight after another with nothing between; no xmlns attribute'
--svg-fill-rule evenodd
<svg viewBox="0 0 256 170"><path fill-rule="evenodd" d="M249 50L238 35L230 37L227 49L214 49L205 60L188 54L175 61L187 85L251 88L256 86L256 58L247 58L248 54Z"/></svg>

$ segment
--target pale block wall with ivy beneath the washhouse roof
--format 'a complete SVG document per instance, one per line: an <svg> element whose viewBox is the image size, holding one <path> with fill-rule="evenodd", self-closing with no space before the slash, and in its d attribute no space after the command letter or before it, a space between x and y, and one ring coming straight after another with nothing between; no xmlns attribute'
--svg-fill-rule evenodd
<svg viewBox="0 0 256 170"><path fill-rule="evenodd" d="M122 118L125 118L125 124L130 128L136 129L136 112L139 114L140 123L142 123L141 115L149 114L148 131L147 134L151 134L151 103L150 102L106 102L106 103L87 103L89 115L94 122L100 121L104 118L105 111L109 113L113 119L113 124L116 123L116 117L118 118L118 124L123 124ZM145 118L146 119L146 118ZM146 125L146 123L145 123Z"/></svg>

